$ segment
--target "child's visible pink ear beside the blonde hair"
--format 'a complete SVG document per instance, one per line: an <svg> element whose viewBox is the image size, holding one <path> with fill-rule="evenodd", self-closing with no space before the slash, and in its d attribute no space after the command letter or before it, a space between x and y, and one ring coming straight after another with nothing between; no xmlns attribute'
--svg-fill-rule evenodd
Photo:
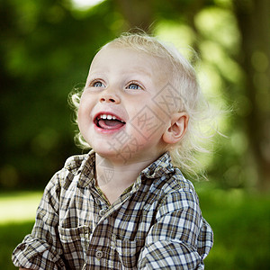
<svg viewBox="0 0 270 270"><path fill-rule="evenodd" d="M162 139L167 144L174 144L183 138L187 130L188 114L186 112L175 112L171 117L171 124L164 132Z"/></svg>

